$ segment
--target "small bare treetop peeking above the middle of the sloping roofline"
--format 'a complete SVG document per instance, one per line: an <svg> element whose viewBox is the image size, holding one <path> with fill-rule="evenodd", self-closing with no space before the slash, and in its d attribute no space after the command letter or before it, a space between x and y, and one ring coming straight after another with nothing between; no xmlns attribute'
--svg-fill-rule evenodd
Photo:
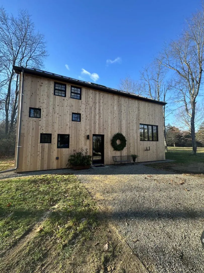
<svg viewBox="0 0 204 273"><path fill-rule="evenodd" d="M133 80L129 75L127 75L124 79L120 79L118 88L125 92L134 93L140 96L144 93L144 84Z"/></svg>

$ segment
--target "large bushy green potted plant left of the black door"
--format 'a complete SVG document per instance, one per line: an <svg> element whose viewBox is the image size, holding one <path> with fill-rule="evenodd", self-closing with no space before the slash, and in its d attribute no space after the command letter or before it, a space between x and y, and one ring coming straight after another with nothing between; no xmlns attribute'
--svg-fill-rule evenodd
<svg viewBox="0 0 204 273"><path fill-rule="evenodd" d="M89 169L92 161L91 155L88 155L88 149L86 148L85 154L83 148L78 153L76 153L76 150L73 150L73 152L73 155L69 156L67 165L72 165L74 170Z"/></svg>

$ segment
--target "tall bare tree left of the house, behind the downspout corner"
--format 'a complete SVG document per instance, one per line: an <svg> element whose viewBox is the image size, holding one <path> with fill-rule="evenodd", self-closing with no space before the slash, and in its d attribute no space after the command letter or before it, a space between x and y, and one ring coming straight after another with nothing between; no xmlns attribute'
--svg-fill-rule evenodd
<svg viewBox="0 0 204 273"><path fill-rule="evenodd" d="M0 67L5 90L5 136L12 132L17 114L18 75L15 74L13 66L40 68L45 57L47 51L44 35L35 31L35 25L27 11L20 10L15 18L1 8ZM12 88L15 96L11 105Z"/></svg>

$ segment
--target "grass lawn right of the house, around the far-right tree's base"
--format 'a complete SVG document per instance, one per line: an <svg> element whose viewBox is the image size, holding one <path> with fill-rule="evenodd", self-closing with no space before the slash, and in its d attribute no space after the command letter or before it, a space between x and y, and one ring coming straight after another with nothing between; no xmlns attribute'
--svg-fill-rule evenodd
<svg viewBox="0 0 204 273"><path fill-rule="evenodd" d="M197 154L192 155L192 147L168 147L166 159L172 159L174 162L154 163L149 166L173 170L178 173L204 173L204 148L197 148Z"/></svg>

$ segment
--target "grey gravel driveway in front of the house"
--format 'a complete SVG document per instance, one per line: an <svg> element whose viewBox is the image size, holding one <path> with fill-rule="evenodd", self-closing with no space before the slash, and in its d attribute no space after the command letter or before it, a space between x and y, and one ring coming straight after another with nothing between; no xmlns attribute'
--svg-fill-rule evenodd
<svg viewBox="0 0 204 273"><path fill-rule="evenodd" d="M149 272L204 272L204 177L144 165L81 173Z"/></svg>

